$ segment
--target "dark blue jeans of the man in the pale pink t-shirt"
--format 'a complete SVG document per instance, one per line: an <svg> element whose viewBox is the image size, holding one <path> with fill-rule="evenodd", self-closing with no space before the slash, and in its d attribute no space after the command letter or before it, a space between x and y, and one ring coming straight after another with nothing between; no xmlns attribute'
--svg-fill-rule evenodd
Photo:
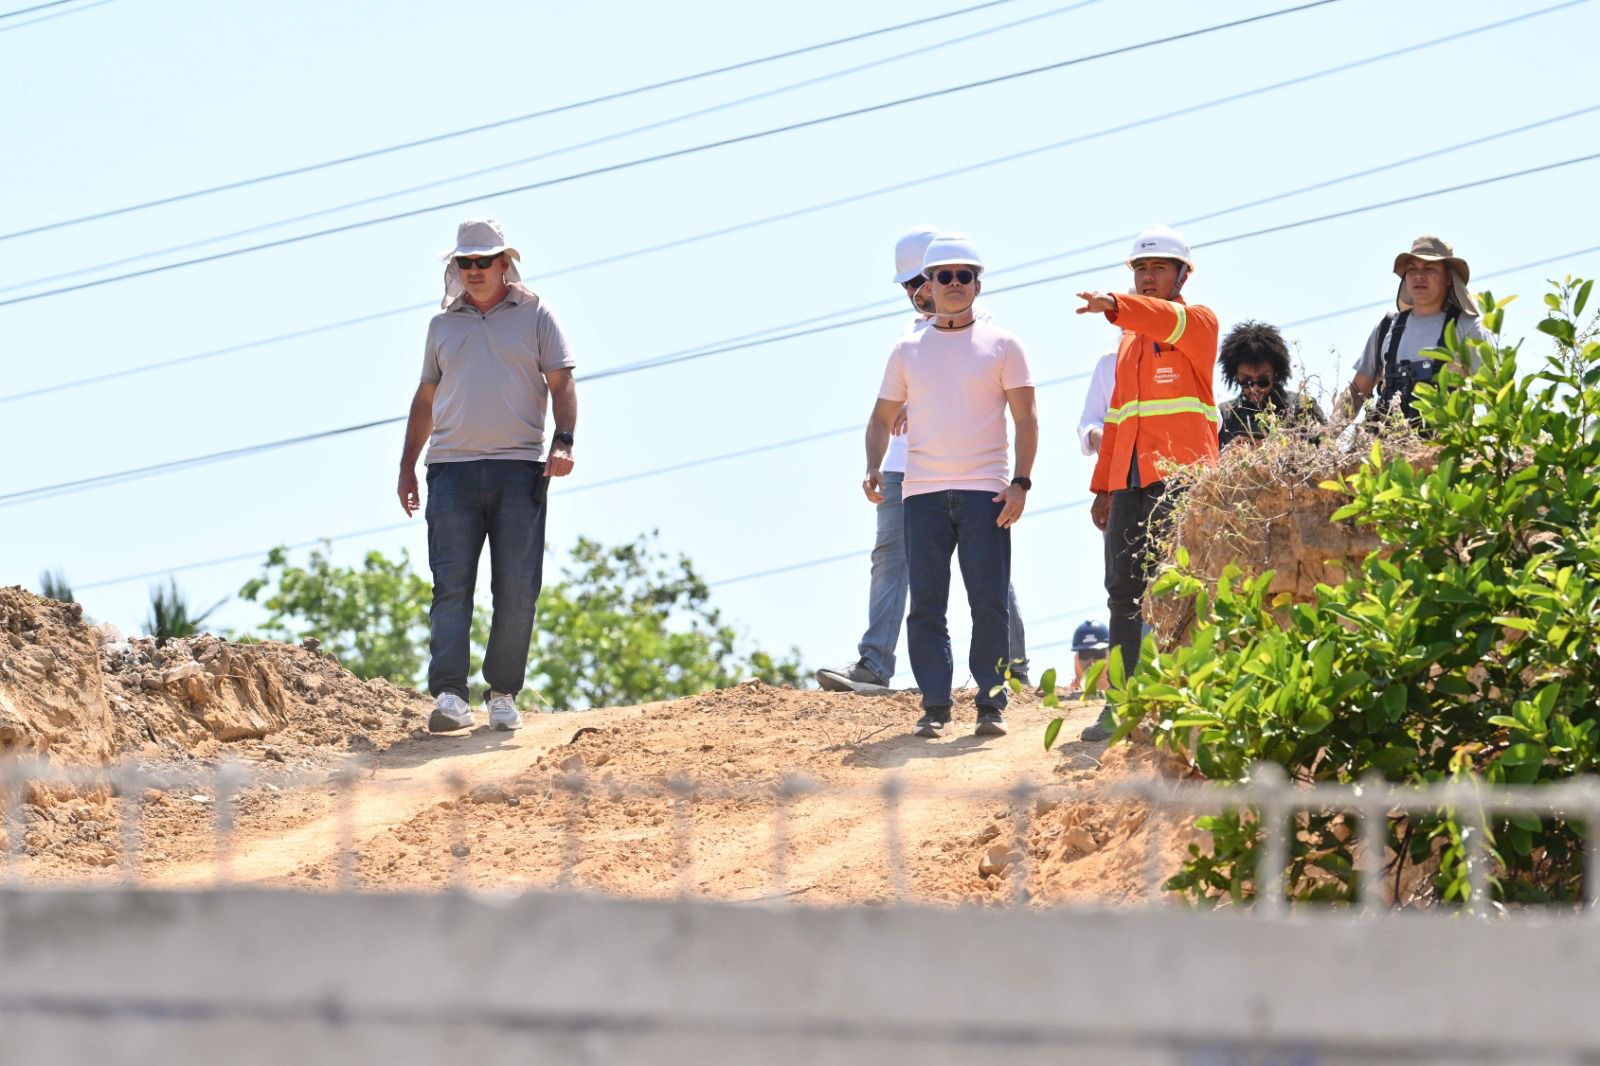
<svg viewBox="0 0 1600 1066"><path fill-rule="evenodd" d="M973 610L973 647L966 666L978 683L978 704L1005 707L1002 669L1010 648L1011 530L995 525L1003 504L992 491L936 491L909 496L906 562L910 568L910 615L906 619L910 672L923 707L950 706L950 554L962 565L966 603ZM1000 690L990 695L998 687Z"/></svg>

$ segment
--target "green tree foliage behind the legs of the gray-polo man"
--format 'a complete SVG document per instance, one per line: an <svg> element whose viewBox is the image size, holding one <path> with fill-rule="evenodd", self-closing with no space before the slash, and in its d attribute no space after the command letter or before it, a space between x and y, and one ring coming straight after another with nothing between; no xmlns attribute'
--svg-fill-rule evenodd
<svg viewBox="0 0 1600 1066"><path fill-rule="evenodd" d="M432 592L405 552L397 560L368 552L360 567L334 567L326 552L314 551L306 567L294 567L286 549L274 549L262 576L240 595L259 599L270 611L270 637L317 637L358 677L421 680ZM491 618L486 597L478 600L474 672L483 663ZM653 535L613 547L579 538L560 581L539 595L530 687L518 703L621 706L688 696L750 675L798 685L800 663L794 653L744 650L686 557L667 559Z"/></svg>

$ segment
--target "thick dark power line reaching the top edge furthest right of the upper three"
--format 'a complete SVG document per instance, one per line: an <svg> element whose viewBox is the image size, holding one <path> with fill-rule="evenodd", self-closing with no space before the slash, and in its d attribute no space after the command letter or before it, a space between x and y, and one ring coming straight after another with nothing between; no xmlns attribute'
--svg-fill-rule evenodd
<svg viewBox="0 0 1600 1066"><path fill-rule="evenodd" d="M1157 37L1157 38L1150 38L1150 40L1144 40L1144 42L1136 42L1133 45L1123 45L1120 48L1109 48L1106 51L1098 51L1098 53L1091 53L1091 54L1086 54L1086 56L1075 56L1072 59L1061 59L1058 62L1050 62L1050 64L1045 64L1045 66L1040 66L1040 67L1029 67L1026 70L1011 70L1008 74L1000 74L1000 75L995 75L995 77L981 78L978 82L966 82L966 83L962 83L962 85L950 85L950 86L939 88L939 90L931 90L931 91L926 91L926 93L917 93L914 96L902 96L899 99L883 101L883 102L878 102L878 104L867 104L866 107L853 107L850 110L834 112L830 115L819 115L816 118L803 118L800 122L790 122L790 123L786 123L786 125L781 125L781 126L770 126L766 130L757 130L757 131L752 131L752 133L741 133L741 134L736 134L736 136L731 136L731 138L722 138L722 139L717 139L717 141L706 141L702 144L691 144L688 147L672 149L669 152L658 152L654 155L643 155L643 157L632 158L632 160L624 160L624 162L619 162L619 163L608 163L605 166L595 166L595 168L590 168L590 170L584 170L584 171L578 171L578 173L571 173L571 174L563 174L560 178L546 178L542 181L534 181L534 182L528 182L528 184L523 184L523 186L514 186L510 189L499 189L496 192L486 192L486 194L480 194L480 195L462 197L462 198L456 198L456 200L448 200L445 203L434 203L434 205L429 205L429 206L411 208L408 211L397 211L394 214L384 214L384 216L379 216L379 218L362 219L358 222L346 222L344 226L331 226L328 229L312 230L309 234L298 234L294 237L280 237L278 240L269 240L269 242L262 242L262 243L258 243L258 245L246 245L243 248L230 248L227 251L218 251L218 253L213 253L213 254L208 254L208 256L197 256L194 259L179 259L176 262L163 262L160 266L144 267L144 269L139 269L139 271L130 271L126 274L114 274L110 277L102 277L102 279L94 279L94 280L88 280L88 282L80 282L78 285L69 285L69 287L61 287L61 288L46 288L46 290L42 290L38 293L27 293L27 295L22 295L22 296L11 296L11 298L6 298L6 299L0 299L0 307L10 307L13 304L22 304L22 303L35 301L35 299L45 299L48 296L61 296L64 293L77 293L77 291L83 291L83 290L88 290L88 288L99 288L102 285L114 285L117 282L126 282L126 280L138 279L138 277L149 277L152 274L165 274L168 271L178 271L178 269L182 269L182 267L200 266L200 264L205 264L205 262L216 262L219 259L232 259L235 256L251 254L251 253L256 253L256 251L267 251L267 250L272 250L272 248L283 248L283 246L296 245L296 243L301 243L301 242L306 242L306 240L315 240L315 238L320 238L320 237L331 237L331 235L336 235L336 234L347 234L347 232L352 232L352 230L357 230L357 229L366 229L370 226L381 226L384 222L395 222L395 221L402 221L402 219L408 219L408 218L418 218L421 214L430 214L434 211L443 211L443 210L448 210L448 208L464 206L467 203L477 203L480 200L490 200L490 198L514 195L514 194L520 194L520 192L531 192L531 190L536 190L536 189L549 189L552 186L560 186L560 184L566 184L566 182L573 182L573 181L581 181L581 179L586 179L586 178L595 178L595 176L600 176L600 174L613 174L613 173L624 171L624 170L634 170L637 166L645 166L648 163L659 163L659 162L664 162L664 160L683 158L686 155L698 155L701 152L709 152L712 149L728 147L728 146L733 146L733 144L747 144L747 142L752 142L752 141L760 141L760 139L779 136L779 134L784 134L784 133L794 133L794 131L798 131L798 130L810 130L810 128L827 125L827 123L832 123L832 122L840 122L840 120L845 120L845 118L856 118L856 117L861 117L861 115L877 114L877 112L890 110L890 109L894 109L894 107L904 107L906 104L915 104L915 102L922 102L922 101L928 101L928 99L938 99L938 98L942 98L942 96L952 96L952 94L965 93L965 91L976 90L976 88L987 88L987 86L992 86L992 85L1003 85L1003 83L1008 83L1008 82L1014 82L1018 78L1034 77L1037 74L1048 74L1048 72L1053 72L1053 70L1062 70L1062 69L1074 67L1074 66L1078 66L1078 64L1083 64L1083 62L1091 62L1094 59L1106 59L1106 58L1110 58L1110 56L1122 56L1122 54L1128 54L1128 53L1134 53L1134 51L1142 51L1146 48L1155 48L1158 45L1168 45L1168 43L1173 43L1173 42L1178 42L1178 40L1189 40L1189 38L1195 38L1195 37L1203 37L1203 35L1208 35L1208 34L1216 34L1216 32L1221 32L1221 30L1235 29L1235 27L1246 26L1246 24L1251 24L1251 22L1261 22L1261 21L1266 21L1266 19L1282 18L1282 16L1286 16L1286 14L1296 14L1296 13L1301 13L1301 11L1309 11L1312 8L1320 8L1320 6L1326 6L1330 3L1341 3L1341 2L1342 0L1307 0L1306 3L1299 3L1299 5L1290 6L1290 8L1280 8L1277 11L1267 11L1264 14L1253 14L1253 16L1248 16L1248 18L1243 18L1243 19L1234 19L1230 22L1218 22L1216 26L1206 26L1206 27L1202 27L1202 29L1186 30L1186 32L1181 32L1181 34L1171 34L1171 35L1166 35L1166 37ZM1586 0L1576 0L1576 2L1586 2Z"/></svg>

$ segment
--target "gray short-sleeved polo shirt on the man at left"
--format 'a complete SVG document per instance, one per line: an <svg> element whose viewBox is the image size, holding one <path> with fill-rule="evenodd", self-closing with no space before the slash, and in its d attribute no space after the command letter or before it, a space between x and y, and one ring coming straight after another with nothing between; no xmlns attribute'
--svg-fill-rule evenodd
<svg viewBox="0 0 1600 1066"><path fill-rule="evenodd" d="M427 323L422 384L438 386L427 463L542 459L544 373L574 365L562 323L526 287L486 312L458 298Z"/></svg>

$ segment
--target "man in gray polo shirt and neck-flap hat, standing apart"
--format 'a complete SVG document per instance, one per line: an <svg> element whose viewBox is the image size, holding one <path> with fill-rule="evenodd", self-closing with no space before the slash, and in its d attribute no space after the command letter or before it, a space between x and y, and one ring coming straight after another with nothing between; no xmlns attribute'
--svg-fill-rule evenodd
<svg viewBox="0 0 1600 1066"><path fill-rule="evenodd" d="M533 611L544 579L549 479L573 471L576 365L562 325L522 283L522 256L499 222L469 219L443 254L443 311L427 325L422 381L400 455L400 506L422 506L416 461L427 443L427 565L434 605L427 728L472 728L467 672L472 592L490 544L494 610L483 655L490 728L522 725L517 693L528 671ZM555 432L546 434L546 405ZM546 461L546 439L550 455Z"/></svg>

